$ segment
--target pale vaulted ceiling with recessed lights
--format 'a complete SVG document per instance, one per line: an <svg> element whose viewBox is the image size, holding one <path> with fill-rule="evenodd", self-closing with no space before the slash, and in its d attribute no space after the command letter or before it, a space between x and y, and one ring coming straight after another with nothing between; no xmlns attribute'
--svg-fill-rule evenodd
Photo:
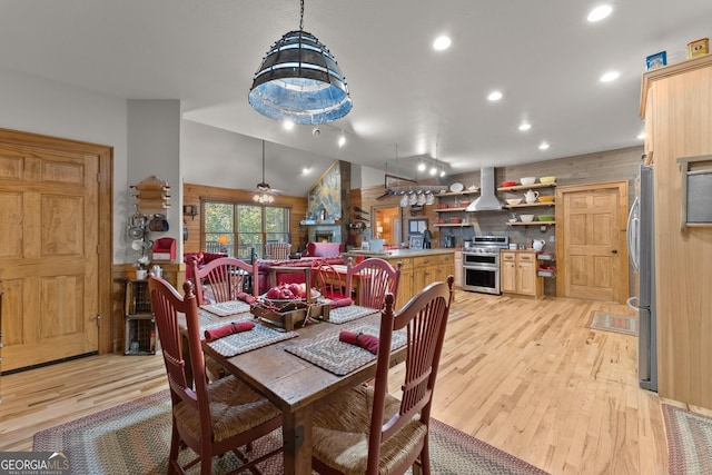
<svg viewBox="0 0 712 475"><path fill-rule="evenodd" d="M590 23L596 3L307 0L304 29L336 57L354 101L318 138L247 103L264 53L298 29L297 0L2 0L0 67L113 97L180 99L196 140L187 149L201 156L188 169L254 186L265 139L267 181L299 192L315 179L301 168L336 158L414 177L423 157L456 174L641 145L645 57L684 59L688 42L712 33L712 2L616 0ZM439 34L449 49L431 47ZM620 78L601 82L611 70ZM487 100L494 90L500 101Z"/></svg>

